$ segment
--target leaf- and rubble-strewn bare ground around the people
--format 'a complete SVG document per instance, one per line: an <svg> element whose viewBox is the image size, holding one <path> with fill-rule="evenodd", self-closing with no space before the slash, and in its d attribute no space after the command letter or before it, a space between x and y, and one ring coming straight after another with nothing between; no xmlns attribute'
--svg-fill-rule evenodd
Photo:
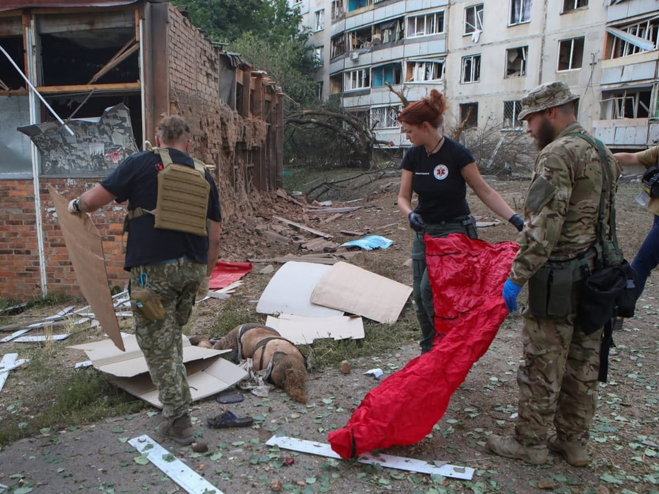
<svg viewBox="0 0 659 494"><path fill-rule="evenodd" d="M394 241L386 250L360 253L350 262L368 266L380 274L411 284L411 269L404 267L411 248L406 219L396 207L397 177L382 178L370 187L357 189L357 202L335 203L333 207L361 206L328 220L295 204L291 198L261 198L257 213L231 226L224 226L221 259L245 261L292 253L299 255L302 238L313 238L296 228L279 230L288 243L268 242L264 224L277 224L273 216L285 217L334 236L341 243L355 237L341 231L383 235ZM492 181L504 198L520 210L526 180ZM638 184L623 183L618 193L618 229L629 259L638 250L651 226L651 217L634 203ZM484 222L496 220L474 196L472 211ZM270 227L268 227L270 228ZM267 229L267 228L266 228ZM512 226L500 222L482 228L479 235L488 242L512 240ZM280 264L271 263L277 268ZM271 275L259 274L268 263L254 263L244 285L233 295L244 305L253 305L259 290ZM651 277L636 317L626 320L614 335L616 348L610 357L609 381L600 387L597 416L592 424L588 467L570 467L562 458L551 456L541 467L507 460L491 454L489 434L513 430L516 412L516 369L521 358L518 314L507 318L487 353L472 368L464 384L454 393L449 408L432 434L416 445L393 447L387 454L476 469L471 481L432 478L420 473L384 469L355 461L277 450L265 445L273 434L327 443L329 431L343 427L364 395L378 380L363 373L382 368L385 375L402 368L418 355L410 342L384 355L363 355L349 362L351 373L324 368L311 373L308 403L290 401L274 390L266 398L244 393L244 401L220 405L214 399L194 403L192 416L198 440L207 443L206 454L174 443L161 445L194 471L203 475L218 491L231 494L271 493L659 493L659 336L657 333L659 290ZM520 297L520 301L522 301ZM213 327L224 301L209 301L196 308L196 333ZM410 311L409 305L404 309ZM55 311L53 311L54 313ZM249 322L249 321L245 321ZM4 347L5 353L12 351ZM16 351L16 350L13 350ZM67 364L84 360L69 351ZM20 396L21 371L12 371L0 395L0 417L9 403ZM209 429L208 416L227 406L238 416L252 416L252 427ZM149 434L157 439L157 410L146 408L132 416L119 416L100 423L49 432L5 445L0 451L0 493L176 493L183 492L152 464L142 464L137 450L127 440Z"/></svg>

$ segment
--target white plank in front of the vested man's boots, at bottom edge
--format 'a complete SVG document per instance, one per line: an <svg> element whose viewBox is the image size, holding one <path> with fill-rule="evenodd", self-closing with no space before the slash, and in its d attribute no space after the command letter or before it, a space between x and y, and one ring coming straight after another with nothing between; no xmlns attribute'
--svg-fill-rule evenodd
<svg viewBox="0 0 659 494"><path fill-rule="evenodd" d="M161 469L176 484L180 485L190 494L222 494L222 491L213 486L201 475L190 469L187 464L172 455L147 435L128 440L128 444L146 456L150 462ZM167 459L165 459L167 458Z"/></svg>

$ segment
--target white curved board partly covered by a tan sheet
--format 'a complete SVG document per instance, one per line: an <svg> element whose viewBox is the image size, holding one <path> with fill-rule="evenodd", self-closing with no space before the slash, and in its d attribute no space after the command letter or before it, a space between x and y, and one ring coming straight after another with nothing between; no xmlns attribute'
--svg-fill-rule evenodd
<svg viewBox="0 0 659 494"><path fill-rule="evenodd" d="M343 316L343 311L310 302L316 283L331 266L288 261L273 275L259 298L256 311L261 314L294 314L304 317Z"/></svg>

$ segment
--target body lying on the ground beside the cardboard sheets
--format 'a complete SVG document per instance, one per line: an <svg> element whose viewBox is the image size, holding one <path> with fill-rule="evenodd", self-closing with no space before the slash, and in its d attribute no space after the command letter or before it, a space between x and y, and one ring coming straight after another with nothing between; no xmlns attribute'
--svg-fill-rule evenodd
<svg viewBox="0 0 659 494"><path fill-rule="evenodd" d="M205 348L232 350L238 362L251 358L255 371L266 369L266 381L286 391L295 401L307 402L306 359L297 346L282 338L275 329L249 322L231 329L215 344L204 336L193 336L190 342Z"/></svg>

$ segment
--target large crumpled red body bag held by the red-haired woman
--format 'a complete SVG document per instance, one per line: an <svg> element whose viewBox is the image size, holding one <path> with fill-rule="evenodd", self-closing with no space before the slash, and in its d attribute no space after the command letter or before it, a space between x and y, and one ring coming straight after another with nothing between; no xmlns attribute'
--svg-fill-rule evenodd
<svg viewBox="0 0 659 494"><path fill-rule="evenodd" d="M506 318L501 291L518 250L454 233L426 235L426 261L435 303L432 349L369 391L343 429L329 433L342 458L417 443L441 419L453 392L487 351Z"/></svg>

